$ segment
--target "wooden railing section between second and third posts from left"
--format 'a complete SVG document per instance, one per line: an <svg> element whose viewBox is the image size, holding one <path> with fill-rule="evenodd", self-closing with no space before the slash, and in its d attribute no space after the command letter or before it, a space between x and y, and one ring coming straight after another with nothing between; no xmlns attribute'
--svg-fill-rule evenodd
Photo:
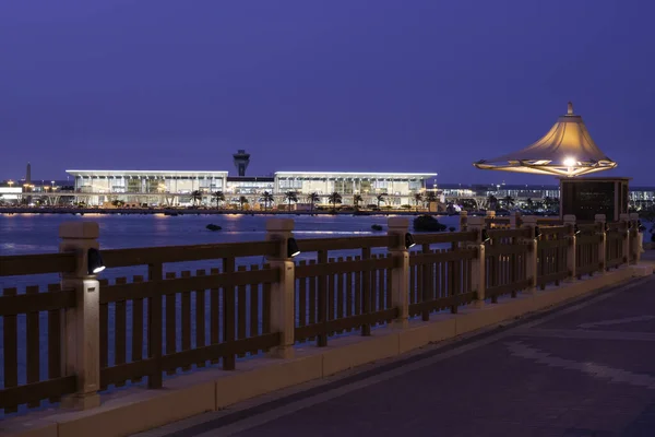
<svg viewBox="0 0 655 437"><path fill-rule="evenodd" d="M327 344L330 335L361 330L370 335L372 326L394 319L391 305L391 279L394 258L374 255L376 248L390 245L389 236L307 239L299 241L303 253L315 259L302 260L295 269L296 341L314 340ZM330 257L331 251L358 255Z"/></svg>

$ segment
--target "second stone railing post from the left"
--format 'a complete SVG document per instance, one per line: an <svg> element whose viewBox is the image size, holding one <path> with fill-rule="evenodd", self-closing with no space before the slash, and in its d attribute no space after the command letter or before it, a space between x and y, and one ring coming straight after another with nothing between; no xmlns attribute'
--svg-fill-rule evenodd
<svg viewBox="0 0 655 437"><path fill-rule="evenodd" d="M277 358L294 357L295 264L288 257L288 239L294 236L291 218L269 218L266 240L277 241L277 255L269 257L271 269L279 270L279 281L271 284L271 332L279 332L279 345L271 350Z"/></svg>

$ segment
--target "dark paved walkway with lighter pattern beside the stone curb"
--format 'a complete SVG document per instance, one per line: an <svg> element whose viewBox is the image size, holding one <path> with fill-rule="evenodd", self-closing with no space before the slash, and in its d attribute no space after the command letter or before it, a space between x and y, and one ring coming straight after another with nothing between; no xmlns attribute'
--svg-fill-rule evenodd
<svg viewBox="0 0 655 437"><path fill-rule="evenodd" d="M154 436L655 436L655 275Z"/></svg>

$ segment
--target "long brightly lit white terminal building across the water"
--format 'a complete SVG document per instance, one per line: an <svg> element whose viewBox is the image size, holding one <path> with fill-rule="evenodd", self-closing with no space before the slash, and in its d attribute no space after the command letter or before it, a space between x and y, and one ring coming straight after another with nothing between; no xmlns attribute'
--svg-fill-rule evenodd
<svg viewBox="0 0 655 437"><path fill-rule="evenodd" d="M67 170L74 178L79 201L103 205L112 200L124 202L188 205L192 193L200 191L200 203L211 204L213 193L223 192L225 202L238 202L246 197L250 204L259 203L263 192L284 202L284 196L294 191L298 201L315 192L319 203L327 203L327 196L342 194L344 204L352 204L354 194L365 203L376 203L384 194L385 205L413 204L414 194L427 188L436 174L419 173L338 173L338 172L276 172L272 176L228 176L226 170Z"/></svg>

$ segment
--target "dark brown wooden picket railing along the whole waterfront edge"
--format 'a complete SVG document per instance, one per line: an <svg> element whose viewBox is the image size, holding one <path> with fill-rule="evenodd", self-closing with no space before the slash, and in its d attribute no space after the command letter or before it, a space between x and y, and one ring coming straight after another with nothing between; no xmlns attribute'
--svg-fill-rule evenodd
<svg viewBox="0 0 655 437"><path fill-rule="evenodd" d="M325 346L344 332L370 335L374 327L394 320L456 314L479 299L496 303L638 257L639 235L628 232L626 221L607 229L604 223L539 224L537 232L539 222L529 217L513 229L478 218L468 217L464 232L415 234L410 250L405 231L391 226L382 236L300 239L301 256L288 267L293 280L285 290L279 261L289 260L281 255L279 238L286 241L288 235L270 232L266 241L254 243L102 250L107 270L93 319L99 331L98 387L147 381L159 388L174 374L216 365L231 370L247 355L295 342ZM69 277L61 284L70 284L83 260L80 252L0 257L4 413L57 402L80 390L63 353L74 338L67 334L74 327L64 326L64 311L81 311L80 292L51 282L53 273L61 273ZM19 287L25 277L32 283ZM279 297L273 297L278 296L274 287L293 294L290 332L279 320L274 323L283 308L275 300Z"/></svg>

